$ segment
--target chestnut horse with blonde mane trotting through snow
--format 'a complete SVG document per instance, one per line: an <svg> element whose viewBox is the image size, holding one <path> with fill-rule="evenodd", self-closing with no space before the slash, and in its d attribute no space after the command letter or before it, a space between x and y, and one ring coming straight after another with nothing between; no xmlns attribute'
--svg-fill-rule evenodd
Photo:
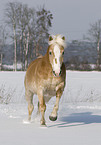
<svg viewBox="0 0 101 145"><path fill-rule="evenodd" d="M63 63L65 37L55 35L49 37L47 53L35 59L28 67L25 75L25 97L28 102L28 120L34 109L33 95L38 96L38 112L41 112L41 125L45 125L46 104L56 96L56 102L49 119L57 120L59 100L65 88L66 69Z"/></svg>

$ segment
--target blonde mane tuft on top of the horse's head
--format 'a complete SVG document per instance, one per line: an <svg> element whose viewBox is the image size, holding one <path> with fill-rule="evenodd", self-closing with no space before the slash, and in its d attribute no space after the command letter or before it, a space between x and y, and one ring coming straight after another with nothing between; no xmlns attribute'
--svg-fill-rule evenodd
<svg viewBox="0 0 101 145"><path fill-rule="evenodd" d="M48 42L49 45L59 44L60 46L66 47L65 41L61 35L52 35L52 40Z"/></svg>

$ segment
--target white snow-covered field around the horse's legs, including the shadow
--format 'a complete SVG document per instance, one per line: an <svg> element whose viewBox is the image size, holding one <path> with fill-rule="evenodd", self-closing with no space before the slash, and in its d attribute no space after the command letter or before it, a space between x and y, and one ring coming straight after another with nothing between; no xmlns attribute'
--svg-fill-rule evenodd
<svg viewBox="0 0 101 145"><path fill-rule="evenodd" d="M36 116L37 96L32 122L25 124L24 76L0 72L0 145L101 145L101 72L67 71L58 120L48 118L54 97L47 104L47 127Z"/></svg>

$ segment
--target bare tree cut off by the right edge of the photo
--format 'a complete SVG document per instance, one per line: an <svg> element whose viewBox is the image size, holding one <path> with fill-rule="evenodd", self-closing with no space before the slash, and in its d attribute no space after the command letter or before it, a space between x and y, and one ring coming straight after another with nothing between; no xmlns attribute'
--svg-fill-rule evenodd
<svg viewBox="0 0 101 145"><path fill-rule="evenodd" d="M100 48L101 48L101 20L98 20L94 24L90 25L88 30L88 40L96 43L97 48L97 68L100 68Z"/></svg>

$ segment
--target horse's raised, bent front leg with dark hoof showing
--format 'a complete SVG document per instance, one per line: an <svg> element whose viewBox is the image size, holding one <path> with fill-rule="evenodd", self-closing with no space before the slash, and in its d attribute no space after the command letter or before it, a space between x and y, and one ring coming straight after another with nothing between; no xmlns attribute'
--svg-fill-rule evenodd
<svg viewBox="0 0 101 145"><path fill-rule="evenodd" d="M51 115L49 116L49 119L51 121L57 120L57 112L58 112L58 109L59 109L59 101L60 101L60 98L62 96L62 93L63 93L63 89L61 89L61 88L58 89L57 92L56 92L56 102L55 102L53 111L52 111Z"/></svg>

